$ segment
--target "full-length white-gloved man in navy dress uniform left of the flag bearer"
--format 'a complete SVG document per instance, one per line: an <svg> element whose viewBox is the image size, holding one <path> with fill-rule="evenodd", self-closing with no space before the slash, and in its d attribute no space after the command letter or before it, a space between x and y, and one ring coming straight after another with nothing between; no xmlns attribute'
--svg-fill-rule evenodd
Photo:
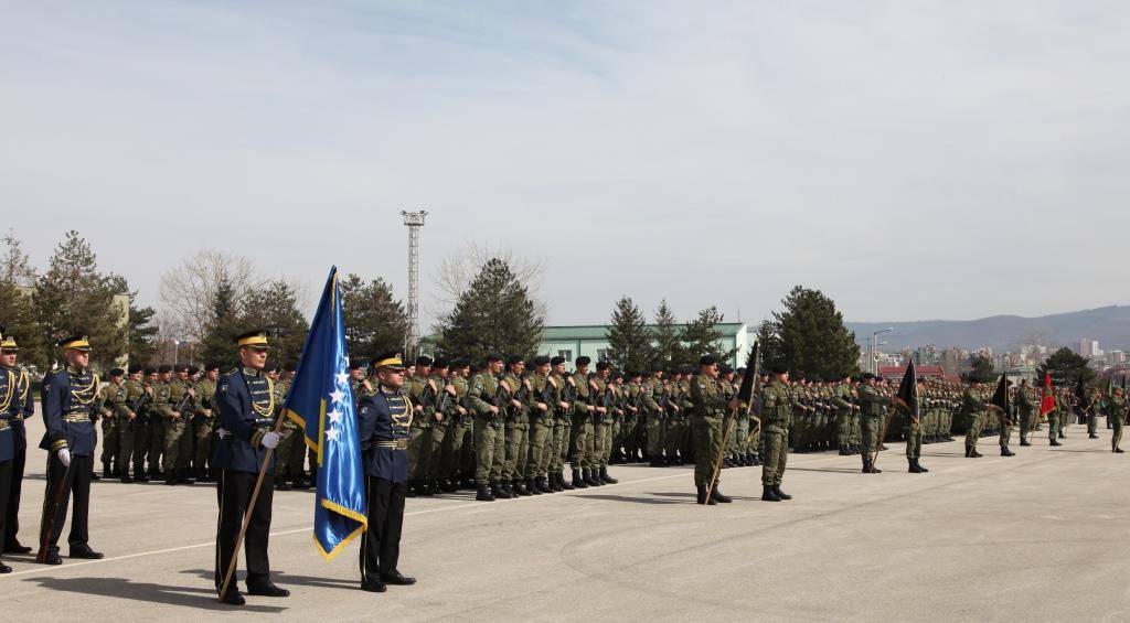
<svg viewBox="0 0 1130 623"><path fill-rule="evenodd" d="M67 537L70 558L101 559L90 549L87 518L90 511L90 476L94 474L94 423L98 405L98 375L90 371L90 342L75 335L59 342L67 366L43 379L41 402L46 431L40 447L47 450L47 486L40 524L37 562L62 564L59 537L67 523L67 506L75 498L71 530Z"/></svg>

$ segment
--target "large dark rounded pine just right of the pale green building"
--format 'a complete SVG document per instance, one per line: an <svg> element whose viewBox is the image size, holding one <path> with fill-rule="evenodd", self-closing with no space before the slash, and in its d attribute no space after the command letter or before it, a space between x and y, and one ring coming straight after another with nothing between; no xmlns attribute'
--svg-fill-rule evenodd
<svg viewBox="0 0 1130 623"><path fill-rule="evenodd" d="M773 313L779 360L797 378L843 378L859 371L855 334L844 326L836 304L819 290L794 287Z"/></svg>

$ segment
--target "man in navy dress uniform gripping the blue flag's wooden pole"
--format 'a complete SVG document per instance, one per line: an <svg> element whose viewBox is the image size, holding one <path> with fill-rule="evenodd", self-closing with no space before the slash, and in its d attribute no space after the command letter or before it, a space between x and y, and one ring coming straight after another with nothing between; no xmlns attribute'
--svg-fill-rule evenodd
<svg viewBox="0 0 1130 623"><path fill-rule="evenodd" d="M221 591L224 576L235 556L235 542L240 535L243 516L251 506L255 479L268 459L267 450L278 447L279 433L271 430L275 423L275 388L266 376L266 331L252 331L236 337L240 345L240 366L219 377L215 406L219 410L219 441L212 460L219 474L216 497L219 501L219 521L216 529L216 590ZM271 456L273 459L273 456ZM267 538L271 530L271 499L275 491L275 471L269 465L263 476L259 498L251 510L251 523L244 535L247 560L247 594L264 597L287 597L289 590L271 582L270 562L267 559ZM243 595L233 576L227 590L220 596L225 604L242 606Z"/></svg>

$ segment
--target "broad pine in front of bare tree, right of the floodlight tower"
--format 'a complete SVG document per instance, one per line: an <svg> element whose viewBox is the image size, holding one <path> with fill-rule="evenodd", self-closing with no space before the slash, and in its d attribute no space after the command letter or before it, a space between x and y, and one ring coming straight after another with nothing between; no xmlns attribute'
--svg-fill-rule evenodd
<svg viewBox="0 0 1130 623"><path fill-rule="evenodd" d="M528 288L506 262L493 258L441 322L440 348L476 359L490 352L527 357L537 350L542 326Z"/></svg>

